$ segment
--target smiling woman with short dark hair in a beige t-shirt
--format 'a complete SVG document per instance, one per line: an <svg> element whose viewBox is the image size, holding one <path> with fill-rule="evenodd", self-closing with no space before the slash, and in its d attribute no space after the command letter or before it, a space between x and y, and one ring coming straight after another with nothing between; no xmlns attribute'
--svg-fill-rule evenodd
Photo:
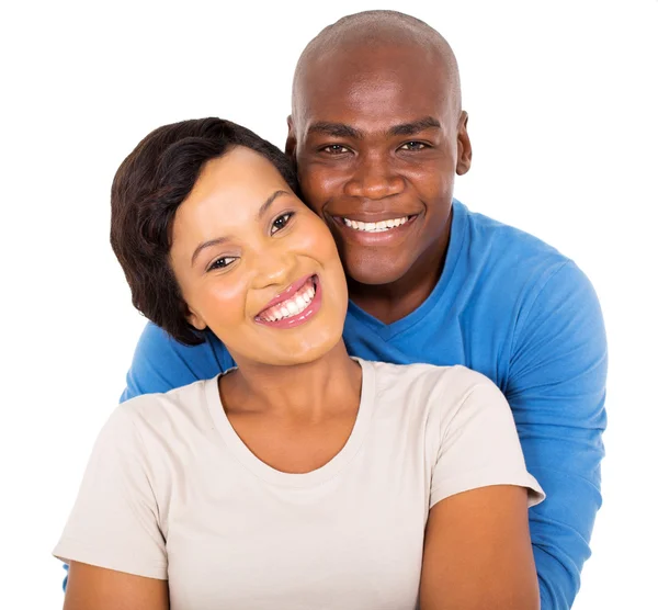
<svg viewBox="0 0 658 610"><path fill-rule="evenodd" d="M351 359L338 252L296 193L279 149L218 118L118 169L135 306L237 368L112 415L55 550L65 609L538 608L542 492L504 398L461 366Z"/></svg>

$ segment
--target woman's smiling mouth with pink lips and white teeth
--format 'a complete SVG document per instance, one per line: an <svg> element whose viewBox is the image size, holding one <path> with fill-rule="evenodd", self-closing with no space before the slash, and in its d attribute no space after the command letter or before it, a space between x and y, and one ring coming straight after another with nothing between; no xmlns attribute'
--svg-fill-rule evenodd
<svg viewBox="0 0 658 610"><path fill-rule="evenodd" d="M320 309L321 301L322 289L319 278L307 275L276 295L270 302L272 305L256 316L256 321L271 328L294 328L315 316Z"/></svg>

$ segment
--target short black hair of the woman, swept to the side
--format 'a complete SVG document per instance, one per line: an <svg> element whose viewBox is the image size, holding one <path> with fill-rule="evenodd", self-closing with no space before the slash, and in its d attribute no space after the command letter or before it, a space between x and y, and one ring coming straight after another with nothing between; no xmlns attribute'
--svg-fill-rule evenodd
<svg viewBox="0 0 658 610"><path fill-rule="evenodd" d="M299 193L293 166L276 146L215 117L158 127L126 157L112 183L110 242L131 286L133 305L188 346L203 343L205 332L188 321L188 305L169 259L171 227L204 165L236 146L262 155Z"/></svg>

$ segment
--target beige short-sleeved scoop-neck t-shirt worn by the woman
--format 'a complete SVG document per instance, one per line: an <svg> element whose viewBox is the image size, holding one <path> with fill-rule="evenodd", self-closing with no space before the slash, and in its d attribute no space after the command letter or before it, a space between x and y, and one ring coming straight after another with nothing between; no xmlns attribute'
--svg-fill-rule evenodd
<svg viewBox="0 0 658 610"><path fill-rule="evenodd" d="M236 434L217 377L120 406L100 433L54 554L169 579L172 610L404 610L443 498L531 489L509 405L462 366L359 361L352 433L307 474Z"/></svg>

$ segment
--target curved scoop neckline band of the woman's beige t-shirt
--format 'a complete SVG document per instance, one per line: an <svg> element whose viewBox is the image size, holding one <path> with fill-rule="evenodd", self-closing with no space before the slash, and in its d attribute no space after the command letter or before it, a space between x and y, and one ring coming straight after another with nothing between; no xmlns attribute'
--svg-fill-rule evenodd
<svg viewBox="0 0 658 610"><path fill-rule="evenodd" d="M230 423L222 397L219 379L228 371L205 382L206 406L222 440L237 461L258 478L285 487L310 487L328 482L340 473L359 453L367 434L368 423L375 404L375 370L360 358L353 358L361 365L361 399L352 431L342 449L325 465L308 473L284 473L265 464L245 444Z"/></svg>

